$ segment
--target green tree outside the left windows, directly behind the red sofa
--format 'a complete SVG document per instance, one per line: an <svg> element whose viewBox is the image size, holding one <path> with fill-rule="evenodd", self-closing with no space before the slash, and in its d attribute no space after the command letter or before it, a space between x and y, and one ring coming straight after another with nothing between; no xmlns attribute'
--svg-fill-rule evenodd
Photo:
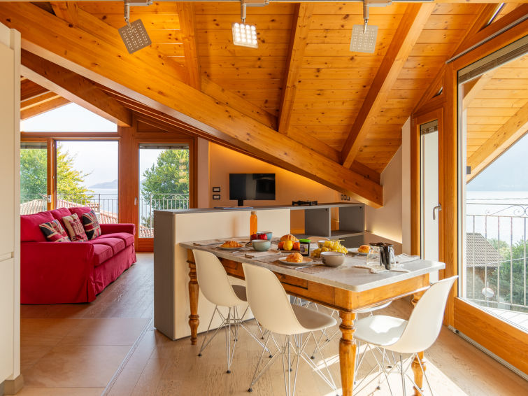
<svg viewBox="0 0 528 396"><path fill-rule="evenodd" d="M85 187L88 174L73 167L75 156L57 146L57 195L85 195L89 199L92 190ZM36 195L47 194L48 159L46 150L20 150L20 194L24 200L36 199Z"/></svg>

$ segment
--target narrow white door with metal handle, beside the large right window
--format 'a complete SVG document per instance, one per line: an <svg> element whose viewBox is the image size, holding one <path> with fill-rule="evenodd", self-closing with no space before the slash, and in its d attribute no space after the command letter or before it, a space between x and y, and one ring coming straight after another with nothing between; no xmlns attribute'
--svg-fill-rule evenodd
<svg viewBox="0 0 528 396"><path fill-rule="evenodd" d="M422 258L438 261L438 120L420 125L420 184L422 199ZM430 281L438 281L438 272Z"/></svg>

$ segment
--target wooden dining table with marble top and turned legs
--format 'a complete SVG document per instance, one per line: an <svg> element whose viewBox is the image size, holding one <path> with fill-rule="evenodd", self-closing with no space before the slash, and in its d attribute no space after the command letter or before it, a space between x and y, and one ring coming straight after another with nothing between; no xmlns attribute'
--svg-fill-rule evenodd
<svg viewBox="0 0 528 396"><path fill-rule="evenodd" d="M445 268L442 262L402 255L398 257L404 257L403 260L390 270L386 270L376 264L367 264L366 255L352 253L345 255L345 261L339 267L327 267L322 264L320 258L315 257L311 262L295 265L280 261L280 258L292 252L277 250L276 241L273 241L266 253L259 253L250 247L245 247L245 242L249 238L235 240L238 240L243 247L227 250L220 248L219 243L215 241L179 243L181 248L187 249L189 265L191 344L197 344L199 325L199 285L193 249L206 250L216 255L227 274L235 278L244 279L242 263L270 269L276 274L288 295L338 311L341 318L338 353L343 396L351 396L353 392L357 348L354 339L356 311L410 295L413 296L411 302L415 305L422 293L429 288L429 274ZM312 246L315 247L317 246ZM423 361L423 352L418 354L417 359ZM420 362L415 359L411 367L415 384L422 388L423 373ZM417 389L415 394L419 394Z"/></svg>

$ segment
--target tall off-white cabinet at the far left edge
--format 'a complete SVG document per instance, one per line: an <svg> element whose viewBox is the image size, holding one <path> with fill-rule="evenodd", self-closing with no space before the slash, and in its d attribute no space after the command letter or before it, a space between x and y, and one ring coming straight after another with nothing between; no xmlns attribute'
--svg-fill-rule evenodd
<svg viewBox="0 0 528 396"><path fill-rule="evenodd" d="M0 383L20 376L20 34L0 24Z"/></svg>

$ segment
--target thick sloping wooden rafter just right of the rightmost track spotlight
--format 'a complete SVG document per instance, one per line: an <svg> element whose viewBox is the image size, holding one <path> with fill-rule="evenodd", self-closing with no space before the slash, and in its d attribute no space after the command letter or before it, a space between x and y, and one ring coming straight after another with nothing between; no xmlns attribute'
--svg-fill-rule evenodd
<svg viewBox="0 0 528 396"><path fill-rule="evenodd" d="M378 73L373 80L369 93L359 110L354 125L341 150L344 167L349 168L359 153L362 142L371 126L376 122L376 115L385 106L387 94L397 80L401 69L418 40L425 22L434 9L434 3L409 4L404 17L398 26L390 46L383 57Z"/></svg>

